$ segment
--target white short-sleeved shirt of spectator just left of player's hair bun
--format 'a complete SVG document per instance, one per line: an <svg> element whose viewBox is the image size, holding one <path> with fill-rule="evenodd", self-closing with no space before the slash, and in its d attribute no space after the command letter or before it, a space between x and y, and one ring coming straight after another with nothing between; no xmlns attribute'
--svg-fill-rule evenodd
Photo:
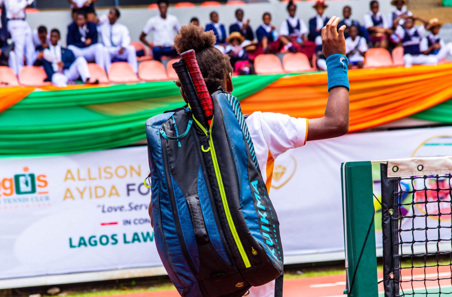
<svg viewBox="0 0 452 297"><path fill-rule="evenodd" d="M179 32L179 20L172 14L166 14L163 19L160 14L148 19L143 28L144 34L154 34L154 45L170 47L174 45L174 36Z"/></svg>

